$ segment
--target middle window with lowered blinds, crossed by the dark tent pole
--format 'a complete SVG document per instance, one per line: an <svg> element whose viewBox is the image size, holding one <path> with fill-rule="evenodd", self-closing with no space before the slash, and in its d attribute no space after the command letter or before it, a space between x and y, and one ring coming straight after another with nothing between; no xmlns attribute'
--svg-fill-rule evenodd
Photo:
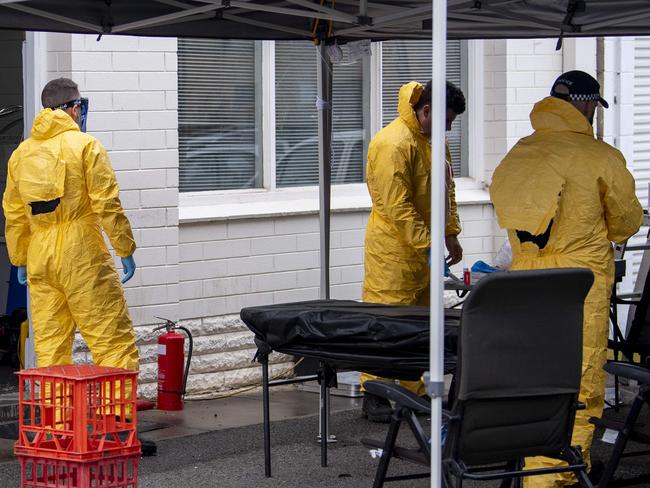
<svg viewBox="0 0 650 488"><path fill-rule="evenodd" d="M278 187L318 184L318 50L275 44L275 165ZM336 64L332 85L332 183L363 181L363 65Z"/></svg>

